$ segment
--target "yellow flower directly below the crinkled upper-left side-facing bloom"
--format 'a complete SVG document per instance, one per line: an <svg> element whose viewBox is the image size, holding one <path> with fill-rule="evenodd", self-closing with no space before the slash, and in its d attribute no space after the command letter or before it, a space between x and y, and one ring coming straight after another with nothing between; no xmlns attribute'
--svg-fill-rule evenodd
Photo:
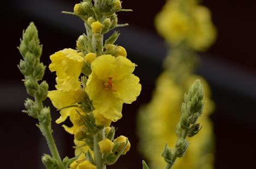
<svg viewBox="0 0 256 169"><path fill-rule="evenodd" d="M66 120L66 118L69 116L70 111L77 109L77 108L65 108L69 105L72 105L76 102L79 102L82 97L84 97L85 92L82 90L76 90L76 91L59 91L59 90L53 90L49 91L47 97L51 99L51 102L53 106L57 109L61 109L61 117L59 117L56 120L56 123L61 123Z"/></svg>

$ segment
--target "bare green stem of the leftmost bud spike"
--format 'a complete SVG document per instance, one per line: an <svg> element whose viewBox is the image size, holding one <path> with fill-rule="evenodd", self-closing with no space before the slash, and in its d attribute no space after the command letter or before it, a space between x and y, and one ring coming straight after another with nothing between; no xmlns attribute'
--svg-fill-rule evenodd
<svg viewBox="0 0 256 169"><path fill-rule="evenodd" d="M37 95L35 96L35 102L37 102L38 109L40 112L43 109L43 103ZM59 156L57 146L52 136L51 121L49 123L43 123L39 121L39 124L40 124L41 132L44 135L47 145L50 149L52 158L57 160L60 167L64 169L65 167L62 164L61 157Z"/></svg>

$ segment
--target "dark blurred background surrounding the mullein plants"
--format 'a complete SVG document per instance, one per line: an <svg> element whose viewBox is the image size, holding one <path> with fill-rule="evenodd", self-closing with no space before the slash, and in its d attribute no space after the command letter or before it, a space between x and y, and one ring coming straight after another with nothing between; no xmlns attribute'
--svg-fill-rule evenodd
<svg viewBox="0 0 256 169"><path fill-rule="evenodd" d="M132 142L129 153L108 168L141 168L141 155L136 148L136 112L139 105L151 99L154 81L162 71L161 62L166 46L153 26L153 18L165 1L124 0L120 12L118 45L127 49L128 57L138 64L135 74L142 84L141 95L131 105L124 105L123 118L116 122L117 135L126 135ZM1 2L1 168L44 168L40 156L49 153L46 142L33 118L22 113L27 95L17 64L21 58L16 46L22 30L33 21L43 43L42 60L49 65L49 56L63 48L75 48L75 41L85 32L82 21L61 11L73 11L79 1L71 0L13 0ZM216 103L212 120L216 135L216 168L256 168L256 2L203 2L212 11L218 29L216 43L202 53L198 73L212 87ZM55 73L46 70L45 79L54 89ZM49 101L45 103L50 104ZM59 116L51 109L53 121ZM61 125L53 124L54 136L62 158L73 156L72 136L63 132ZM160 155L160 154L159 154Z"/></svg>

